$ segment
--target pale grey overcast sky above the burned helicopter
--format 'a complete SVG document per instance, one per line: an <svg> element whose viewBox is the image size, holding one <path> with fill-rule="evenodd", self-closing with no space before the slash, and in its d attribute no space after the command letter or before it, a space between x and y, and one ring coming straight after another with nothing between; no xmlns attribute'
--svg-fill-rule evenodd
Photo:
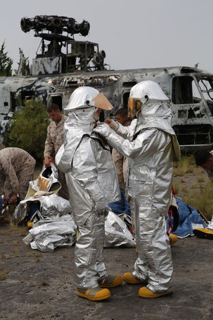
<svg viewBox="0 0 213 320"><path fill-rule="evenodd" d="M1 0L0 45L13 69L19 47L32 64L41 39L23 32L21 19L58 15L89 21L89 36L74 38L99 43L111 70L199 63L213 73L212 14L212 0Z"/></svg>

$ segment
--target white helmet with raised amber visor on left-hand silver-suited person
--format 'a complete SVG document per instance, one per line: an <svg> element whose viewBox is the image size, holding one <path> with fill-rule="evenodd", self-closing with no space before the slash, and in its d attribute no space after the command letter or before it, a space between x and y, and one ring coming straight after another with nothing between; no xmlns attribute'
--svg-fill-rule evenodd
<svg viewBox="0 0 213 320"><path fill-rule="evenodd" d="M70 96L66 111L78 108L98 107L104 110L111 110L113 106L106 99L104 94L93 87L78 87Z"/></svg>

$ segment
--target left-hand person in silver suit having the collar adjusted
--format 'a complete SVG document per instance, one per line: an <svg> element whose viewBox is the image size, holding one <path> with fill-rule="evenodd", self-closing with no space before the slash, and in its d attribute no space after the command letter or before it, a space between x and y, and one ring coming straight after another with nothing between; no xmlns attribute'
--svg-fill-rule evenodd
<svg viewBox="0 0 213 320"><path fill-rule="evenodd" d="M77 295L92 301L110 297L108 288L122 283L120 275L108 275L102 259L104 220L108 204L120 200L109 146L93 128L101 109L111 103L92 87L78 87L69 99L64 145L56 164L66 174L69 201L78 226L75 247Z"/></svg>

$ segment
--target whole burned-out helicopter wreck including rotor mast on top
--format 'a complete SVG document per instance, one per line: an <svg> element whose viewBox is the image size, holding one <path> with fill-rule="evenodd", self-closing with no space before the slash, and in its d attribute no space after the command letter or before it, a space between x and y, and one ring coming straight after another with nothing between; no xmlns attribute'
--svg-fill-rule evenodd
<svg viewBox="0 0 213 320"><path fill-rule="evenodd" d="M103 92L116 111L127 107L133 85L153 80L170 97L172 127L181 150L213 149L213 74L184 66L110 70L98 43L74 39L74 34L87 36L89 26L87 21L77 23L58 16L21 19L23 32L34 30L34 36L41 37L41 53L32 61L31 75L0 77L1 134L8 118L25 99L35 97L46 105L57 103L63 109L74 89L87 85ZM21 62L19 74L25 74Z"/></svg>

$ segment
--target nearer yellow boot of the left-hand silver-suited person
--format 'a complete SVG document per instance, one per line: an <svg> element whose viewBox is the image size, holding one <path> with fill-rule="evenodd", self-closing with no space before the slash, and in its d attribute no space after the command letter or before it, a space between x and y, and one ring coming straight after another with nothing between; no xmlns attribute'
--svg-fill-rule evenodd
<svg viewBox="0 0 213 320"><path fill-rule="evenodd" d="M102 289L100 287L91 289L78 288L77 295L91 301L100 301L111 297L110 291L108 289Z"/></svg>

